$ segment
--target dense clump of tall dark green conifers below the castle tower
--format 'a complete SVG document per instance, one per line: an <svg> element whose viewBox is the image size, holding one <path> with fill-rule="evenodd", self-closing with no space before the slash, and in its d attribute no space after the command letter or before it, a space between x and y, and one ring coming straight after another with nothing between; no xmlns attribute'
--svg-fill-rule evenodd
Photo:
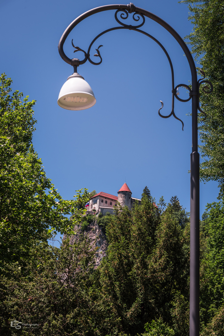
<svg viewBox="0 0 224 336"><path fill-rule="evenodd" d="M116 211L106 227L109 246L99 268L100 281L120 317L118 331L136 335L160 315L167 323L172 314L176 319L175 295L188 295L189 251L170 211L160 216L147 197L133 211L119 206Z"/></svg>

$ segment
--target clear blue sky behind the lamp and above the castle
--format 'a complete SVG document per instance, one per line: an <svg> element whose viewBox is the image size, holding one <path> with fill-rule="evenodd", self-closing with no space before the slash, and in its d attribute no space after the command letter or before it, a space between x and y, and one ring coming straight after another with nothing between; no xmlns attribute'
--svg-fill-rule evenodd
<svg viewBox="0 0 224 336"><path fill-rule="evenodd" d="M181 123L161 113L171 111L171 74L160 47L134 31L112 31L94 44L101 47L103 62L86 62L78 72L92 87L96 104L84 111L60 108L57 98L61 86L73 68L60 57L57 46L66 27L80 14L94 7L112 4L108 0L1 0L0 71L13 80L13 89L37 100L34 148L64 199L75 190L117 195L124 181L132 196L141 198L147 185L156 201L166 202L177 195L180 204L190 210L191 102L175 101L175 114ZM139 0L135 6L164 19L184 38L192 30L188 8L175 0ZM65 53L71 45L87 51L90 42L103 30L118 26L115 11L95 14L80 23L68 36ZM131 24L131 23L130 23ZM190 69L174 38L146 18L143 30L157 38L170 54L175 86L189 84ZM96 57L92 57L97 61ZM180 91L186 97L184 89ZM216 182L201 183L200 214L206 204L216 201Z"/></svg>

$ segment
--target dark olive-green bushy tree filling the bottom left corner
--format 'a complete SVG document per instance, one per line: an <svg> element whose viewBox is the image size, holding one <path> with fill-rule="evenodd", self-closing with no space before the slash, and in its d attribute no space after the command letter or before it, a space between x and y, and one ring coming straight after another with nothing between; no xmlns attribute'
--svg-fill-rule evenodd
<svg viewBox="0 0 224 336"><path fill-rule="evenodd" d="M102 336L116 326L113 307L100 296L94 254L83 239L59 248L41 243L30 250L33 259L11 265L13 277L0 280L1 335ZM110 319L108 319L110 316ZM10 322L38 323L20 330Z"/></svg>

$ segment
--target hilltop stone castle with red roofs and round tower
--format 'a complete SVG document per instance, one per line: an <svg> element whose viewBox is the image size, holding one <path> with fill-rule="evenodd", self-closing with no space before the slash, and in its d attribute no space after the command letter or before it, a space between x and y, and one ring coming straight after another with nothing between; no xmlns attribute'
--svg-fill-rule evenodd
<svg viewBox="0 0 224 336"><path fill-rule="evenodd" d="M118 196L100 192L93 197L91 197L89 202L89 213L99 214L100 212L105 215L106 212L111 214L114 213L114 206L117 205L117 202L120 203L122 207L127 206L129 210L133 207L135 202L141 203L141 200L138 198L131 197L132 192L125 182L120 190L117 192Z"/></svg>

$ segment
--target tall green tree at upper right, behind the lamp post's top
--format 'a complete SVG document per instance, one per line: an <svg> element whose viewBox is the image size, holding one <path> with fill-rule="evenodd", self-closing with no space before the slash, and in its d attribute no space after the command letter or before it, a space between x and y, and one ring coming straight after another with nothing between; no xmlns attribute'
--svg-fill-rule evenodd
<svg viewBox="0 0 224 336"><path fill-rule="evenodd" d="M224 195L224 5L223 0L183 0L189 4L189 20L193 31L186 38L195 60L212 82L214 90L206 94L201 88L199 114L200 152L204 161L200 165L203 181L219 183ZM199 73L200 74L200 73ZM208 89L205 88L205 91Z"/></svg>

